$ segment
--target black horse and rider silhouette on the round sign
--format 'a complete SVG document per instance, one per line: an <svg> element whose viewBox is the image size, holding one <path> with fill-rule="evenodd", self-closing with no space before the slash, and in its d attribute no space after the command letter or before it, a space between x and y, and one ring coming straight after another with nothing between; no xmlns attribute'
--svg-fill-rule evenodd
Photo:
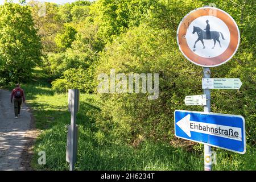
<svg viewBox="0 0 256 182"><path fill-rule="evenodd" d="M212 47L212 49L215 47L215 44L216 44L216 40L218 41L218 43L220 44L220 47L221 47L221 43L220 43L220 34L221 34L221 38L223 40L224 39L224 36L221 32L218 32L218 31L210 31L210 24L209 24L209 20L206 20L206 23L207 23L207 26L206 28L204 29L205 31L203 31L201 28L199 27L195 27L193 26L193 32L192 34L195 34L195 32L197 33L197 36L198 36L198 39L196 40L195 44L194 44L194 48L196 48L196 43L199 42L199 40L201 40L203 46L204 46L204 39L213 39L214 41L214 46ZM205 48L205 46L204 46Z"/></svg>

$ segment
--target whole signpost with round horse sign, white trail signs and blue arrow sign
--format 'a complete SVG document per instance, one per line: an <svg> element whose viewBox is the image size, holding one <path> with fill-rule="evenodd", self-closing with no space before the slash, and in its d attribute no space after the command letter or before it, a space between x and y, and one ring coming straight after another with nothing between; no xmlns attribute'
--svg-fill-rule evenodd
<svg viewBox="0 0 256 182"><path fill-rule="evenodd" d="M204 6L181 20L177 28L177 44L189 61L203 67L202 88L206 98L203 99L204 112L175 111L175 135L204 143L204 170L211 171L211 146L240 154L246 151L245 119L239 115L210 113L210 89L240 89L242 85L239 78L210 78L210 67L226 63L237 52L240 32L228 13ZM187 96L185 104L200 105L198 97ZM203 127L209 127L210 131L201 130Z"/></svg>

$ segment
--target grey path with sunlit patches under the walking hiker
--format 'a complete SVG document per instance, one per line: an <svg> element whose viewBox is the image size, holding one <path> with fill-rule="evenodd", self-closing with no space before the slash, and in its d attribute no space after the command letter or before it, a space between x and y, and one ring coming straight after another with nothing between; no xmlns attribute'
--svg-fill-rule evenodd
<svg viewBox="0 0 256 182"><path fill-rule="evenodd" d="M14 117L10 92L0 89L0 171L26 170L30 164L26 160L28 147L34 139L28 135L32 126L31 113L22 104L20 117Z"/></svg>

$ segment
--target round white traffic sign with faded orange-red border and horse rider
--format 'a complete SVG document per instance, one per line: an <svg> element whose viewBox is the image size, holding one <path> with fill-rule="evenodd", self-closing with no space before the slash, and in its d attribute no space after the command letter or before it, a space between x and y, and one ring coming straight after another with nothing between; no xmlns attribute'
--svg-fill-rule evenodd
<svg viewBox="0 0 256 182"><path fill-rule="evenodd" d="M215 7L191 11L177 28L177 43L183 55L201 67L217 67L236 53L240 32L232 16Z"/></svg>

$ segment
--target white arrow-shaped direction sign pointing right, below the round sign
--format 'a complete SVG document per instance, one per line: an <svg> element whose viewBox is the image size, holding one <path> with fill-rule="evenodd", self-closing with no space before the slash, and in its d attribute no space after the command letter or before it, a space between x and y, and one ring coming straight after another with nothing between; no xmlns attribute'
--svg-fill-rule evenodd
<svg viewBox="0 0 256 182"><path fill-rule="evenodd" d="M240 89L242 82L239 78L203 78L203 89Z"/></svg>

